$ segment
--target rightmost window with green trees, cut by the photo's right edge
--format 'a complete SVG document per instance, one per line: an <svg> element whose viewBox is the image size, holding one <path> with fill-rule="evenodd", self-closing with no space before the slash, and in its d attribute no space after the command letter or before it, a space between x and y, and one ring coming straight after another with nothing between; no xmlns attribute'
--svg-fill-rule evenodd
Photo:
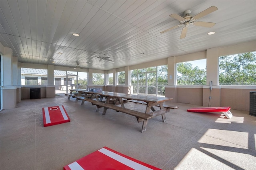
<svg viewBox="0 0 256 170"><path fill-rule="evenodd" d="M219 85L256 85L256 51L219 57Z"/></svg>

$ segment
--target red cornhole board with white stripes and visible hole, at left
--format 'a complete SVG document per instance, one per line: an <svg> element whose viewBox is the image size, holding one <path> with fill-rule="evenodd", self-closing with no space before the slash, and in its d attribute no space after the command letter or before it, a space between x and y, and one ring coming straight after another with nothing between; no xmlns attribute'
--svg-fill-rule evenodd
<svg viewBox="0 0 256 170"><path fill-rule="evenodd" d="M44 127L70 122L64 106L43 107Z"/></svg>

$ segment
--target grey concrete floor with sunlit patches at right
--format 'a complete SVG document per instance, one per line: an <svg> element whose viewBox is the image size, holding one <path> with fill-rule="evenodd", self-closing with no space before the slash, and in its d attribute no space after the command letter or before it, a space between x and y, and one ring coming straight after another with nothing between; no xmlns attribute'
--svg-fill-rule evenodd
<svg viewBox="0 0 256 170"><path fill-rule="evenodd" d="M124 113L102 108L67 96L22 100L15 109L0 112L1 170L62 170L104 146L163 170L256 168L256 117L248 111L190 113L198 107L172 103L179 109L142 122ZM42 107L64 105L71 121L43 127ZM127 103L144 112L145 106Z"/></svg>

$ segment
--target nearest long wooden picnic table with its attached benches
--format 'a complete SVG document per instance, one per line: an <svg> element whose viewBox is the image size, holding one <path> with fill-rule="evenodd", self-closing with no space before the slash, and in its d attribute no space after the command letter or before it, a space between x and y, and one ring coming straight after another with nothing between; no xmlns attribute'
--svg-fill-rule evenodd
<svg viewBox="0 0 256 170"><path fill-rule="evenodd" d="M158 115L162 115L163 122L166 121L165 113L169 112L170 108L164 107L163 103L165 101L172 100L172 98L168 98L168 97L134 95L134 94L116 93L116 92L110 92L110 91L102 91L102 92L84 91L84 93L85 93L84 94L85 101L90 101L93 105L97 105L97 107L104 107L102 115L106 114L107 109L114 109L116 111L120 111L120 112L137 117L138 122L143 121L141 132L146 131L146 125L148 123L148 119L151 119ZM86 96L89 94L91 96L94 96L97 99L97 101L92 99L87 99ZM98 96L100 96L100 99L98 99ZM102 102L102 99L104 97L106 98L106 101ZM126 109L124 106L124 101L127 102L129 100L145 102L146 103L145 112L142 113L142 112L134 111L132 109ZM121 107L116 106L119 104L121 105ZM155 110L153 106L159 106L160 109Z"/></svg>

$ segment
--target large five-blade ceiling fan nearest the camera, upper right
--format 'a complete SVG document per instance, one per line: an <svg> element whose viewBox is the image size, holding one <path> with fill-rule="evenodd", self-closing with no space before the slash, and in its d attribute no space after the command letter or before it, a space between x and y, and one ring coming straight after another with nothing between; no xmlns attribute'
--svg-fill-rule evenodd
<svg viewBox="0 0 256 170"><path fill-rule="evenodd" d="M211 6L210 8L207 8L206 10L200 12L199 14L196 14L195 16L190 15L191 10L186 10L184 12L183 17L179 16L178 14L171 14L170 17L175 18L176 20L179 20L180 24L177 25L177 26L174 26L172 28L169 28L167 30L164 30L160 33L163 34L165 32L168 32L172 29L175 29L175 28L178 28L178 27L184 25L184 27L182 28L181 35L180 35L180 39L182 39L182 38L186 37L187 31L188 31L188 26L190 24L194 25L194 26L201 26L201 27L211 28L216 23L214 23L214 22L201 22L201 21L196 21L196 20L198 20L199 18L202 18L202 17L204 17L204 16L206 16L206 15L208 15L208 14L210 14L210 13L216 11L216 10L218 10L218 8L216 6Z"/></svg>

